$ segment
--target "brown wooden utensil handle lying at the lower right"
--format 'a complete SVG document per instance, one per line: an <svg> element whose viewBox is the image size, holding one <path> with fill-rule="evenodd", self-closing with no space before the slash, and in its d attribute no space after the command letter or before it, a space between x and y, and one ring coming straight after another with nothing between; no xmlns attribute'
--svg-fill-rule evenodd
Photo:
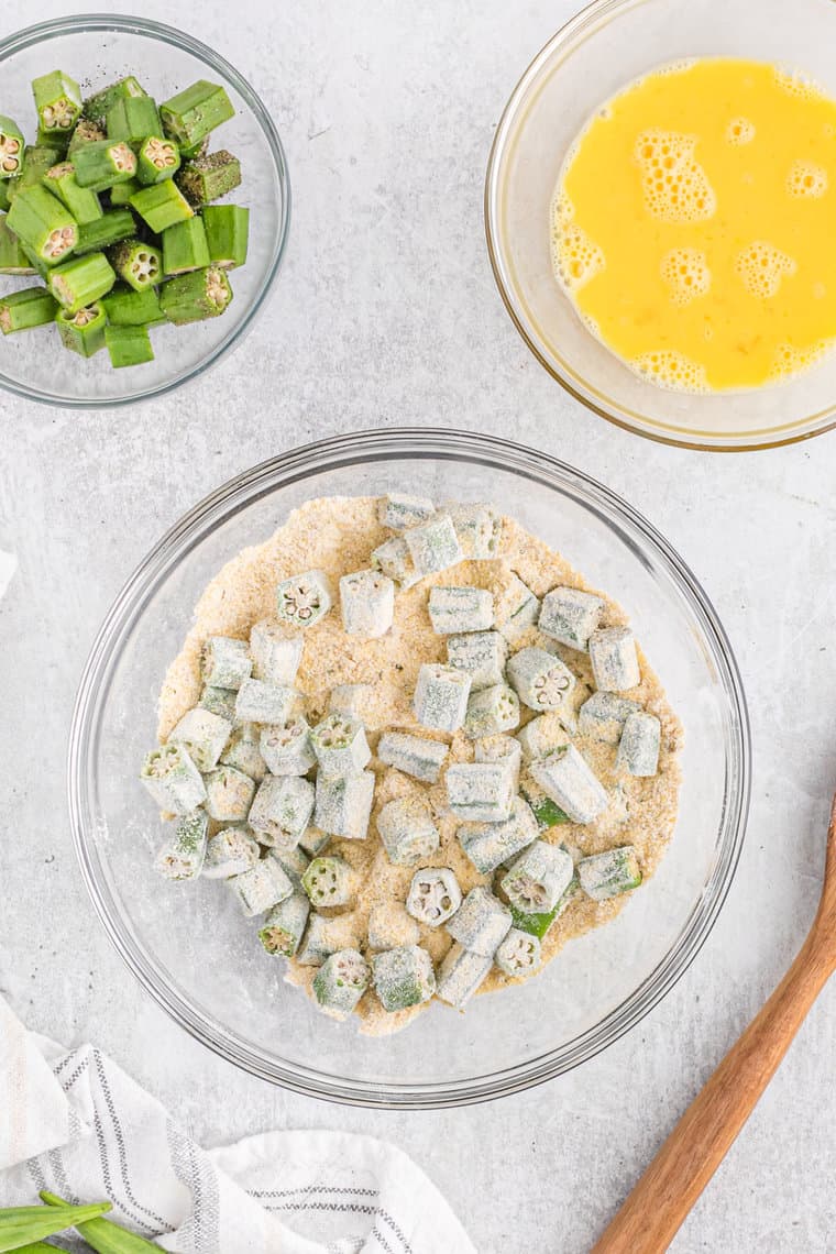
<svg viewBox="0 0 836 1254"><path fill-rule="evenodd" d="M662 1254L836 969L836 796L818 913L792 967L682 1116L592 1254Z"/></svg>

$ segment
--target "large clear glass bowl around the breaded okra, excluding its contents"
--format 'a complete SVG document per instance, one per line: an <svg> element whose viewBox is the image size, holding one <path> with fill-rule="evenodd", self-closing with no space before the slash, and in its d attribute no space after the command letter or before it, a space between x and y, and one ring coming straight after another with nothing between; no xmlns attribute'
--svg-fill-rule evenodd
<svg viewBox="0 0 836 1254"><path fill-rule="evenodd" d="M157 695L208 581L305 500L402 489L491 500L560 548L630 613L686 729L681 818L658 874L615 919L528 986L435 1004L368 1038L282 983L232 894L163 885L159 819L138 782ZM466 433L404 429L323 440L266 461L194 507L130 576L95 640L69 751L75 848L118 951L188 1032L266 1080L376 1106L457 1106L577 1066L637 1023L717 918L743 839L750 734L737 666L691 571L612 492L541 453Z"/></svg>

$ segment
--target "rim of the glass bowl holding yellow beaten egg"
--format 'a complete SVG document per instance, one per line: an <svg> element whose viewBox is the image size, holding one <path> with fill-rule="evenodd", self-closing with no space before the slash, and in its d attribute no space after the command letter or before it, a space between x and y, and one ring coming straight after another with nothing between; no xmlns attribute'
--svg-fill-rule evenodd
<svg viewBox="0 0 836 1254"><path fill-rule="evenodd" d="M684 431L679 435L666 434L663 430L651 426L649 421L642 423L639 420L640 415L635 415L635 420L632 420L624 416L623 411L615 413L614 409L609 410L590 395L589 390L583 386L583 380L580 380L580 377L578 377L577 382L573 382L568 374L563 374L546 357L534 335L534 331L529 329L526 320L514 298L511 283L506 277L504 247L501 243L501 232L499 229L499 202L505 186L504 182L500 181L500 167L503 164L508 144L510 143L514 124L518 119L521 105L526 103L529 92L534 89L540 73L545 69L551 56L564 45L589 35L594 31L594 28L599 23L604 20L609 21L629 9L635 9L637 6L648 3L653 3L653 0L590 0L589 4L565 21L555 31L555 34L551 35L545 44L543 44L514 85L494 132L494 139L488 155L483 197L483 216L488 257L490 260L490 267L499 295L523 342L526 345L533 356L540 362L540 365L548 371L548 374L555 379L570 396L573 396L577 401L580 401L585 409L597 414L599 418L607 419L608 423L612 423L614 426L619 426L624 431L630 431L630 434L640 435L648 440L654 440L657 444L667 444L679 449L694 449L703 453L752 453L760 449L782 448L787 444L798 444L801 440L811 440L817 435L823 435L826 431L836 429L836 403L823 411L822 415L813 415L805 419L807 425L798 431L782 434L781 429L776 429L775 434L770 435L760 433L762 436L760 439L756 434L753 434L751 436L742 438L732 435L728 440L724 440L722 435L711 438L704 431L694 431L693 436L687 435ZM732 404L733 400L734 395L731 394L729 401ZM811 423L818 423L818 425L811 428L808 425Z"/></svg>

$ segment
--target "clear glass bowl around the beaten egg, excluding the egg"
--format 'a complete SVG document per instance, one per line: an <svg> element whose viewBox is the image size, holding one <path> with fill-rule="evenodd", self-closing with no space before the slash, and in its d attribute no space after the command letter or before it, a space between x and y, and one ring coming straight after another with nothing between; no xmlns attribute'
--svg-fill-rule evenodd
<svg viewBox="0 0 836 1254"><path fill-rule="evenodd" d="M549 208L572 140L647 70L691 56L745 56L801 70L836 95L830 0L595 0L538 53L496 129L485 227L508 312L535 357L594 413L687 448L788 444L836 425L836 354L775 387L713 396L663 391L583 326L554 278Z"/></svg>

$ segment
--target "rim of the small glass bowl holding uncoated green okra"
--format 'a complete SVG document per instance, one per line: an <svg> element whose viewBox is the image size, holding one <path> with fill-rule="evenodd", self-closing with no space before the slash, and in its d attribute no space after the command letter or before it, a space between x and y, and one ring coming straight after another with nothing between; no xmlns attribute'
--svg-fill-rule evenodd
<svg viewBox="0 0 836 1254"><path fill-rule="evenodd" d="M216 70L234 87L236 92L243 98L247 108L256 118L271 149L281 188L280 221L276 238L273 241L273 251L269 265L262 275L256 295L241 322L237 325L234 331L229 332L228 337L222 340L221 344L218 344L208 354L207 357L204 357L192 370L178 376L177 379L169 379L160 384L155 384L154 386L145 387L142 391L132 394L130 396L63 396L53 395L51 393L44 391L39 387L31 387L26 384L18 382L14 379L9 379L0 370L0 387L5 391L11 393L15 396L21 396L24 400L35 401L41 405L53 405L56 409L98 410L120 409L124 405L137 405L145 400L167 396L178 387L192 382L193 379L198 379L201 375L211 370L212 366L217 365L222 357L237 349L244 336L252 330L256 317L261 314L267 297L273 288L273 283L285 258L291 226L292 196L290 173L287 168L287 155L276 128L276 123L264 108L261 97L252 84L243 76L243 74L241 74L234 65L226 59L226 56L222 56L221 53L216 53L208 44L196 39L187 31L179 30L177 26L170 26L162 21L155 21L150 18L137 18L129 14L118 13L85 13L71 14L65 18L51 18L48 21L39 21L31 26L24 26L0 40L0 66L3 66L10 56L14 56L15 53L20 53L39 43L59 39L63 35L89 34L90 31L97 30L137 34L147 39L157 40L158 43L168 44L172 48L189 53L192 56L202 60L206 65Z"/></svg>

